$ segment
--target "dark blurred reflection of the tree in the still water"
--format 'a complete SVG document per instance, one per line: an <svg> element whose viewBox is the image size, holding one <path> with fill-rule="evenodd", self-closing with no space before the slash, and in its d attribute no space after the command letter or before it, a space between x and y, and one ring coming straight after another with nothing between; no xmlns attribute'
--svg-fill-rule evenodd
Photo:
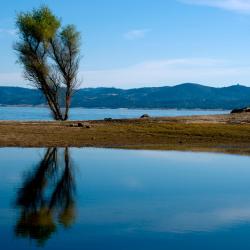
<svg viewBox="0 0 250 250"><path fill-rule="evenodd" d="M26 175L17 193L20 217L15 234L43 245L56 232L75 219L75 180L68 148L47 149L34 171Z"/></svg>

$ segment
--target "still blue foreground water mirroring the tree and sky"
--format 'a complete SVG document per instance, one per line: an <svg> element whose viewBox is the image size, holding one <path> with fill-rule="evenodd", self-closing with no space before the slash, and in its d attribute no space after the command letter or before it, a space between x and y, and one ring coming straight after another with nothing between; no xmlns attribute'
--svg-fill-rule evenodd
<svg viewBox="0 0 250 250"><path fill-rule="evenodd" d="M0 149L1 249L249 249L250 158Z"/></svg>

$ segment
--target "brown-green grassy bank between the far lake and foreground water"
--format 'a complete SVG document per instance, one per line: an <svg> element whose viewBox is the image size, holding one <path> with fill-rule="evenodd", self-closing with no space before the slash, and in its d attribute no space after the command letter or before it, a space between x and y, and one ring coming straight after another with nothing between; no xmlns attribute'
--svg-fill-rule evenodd
<svg viewBox="0 0 250 250"><path fill-rule="evenodd" d="M1 147L108 147L250 154L250 115L0 122Z"/></svg>

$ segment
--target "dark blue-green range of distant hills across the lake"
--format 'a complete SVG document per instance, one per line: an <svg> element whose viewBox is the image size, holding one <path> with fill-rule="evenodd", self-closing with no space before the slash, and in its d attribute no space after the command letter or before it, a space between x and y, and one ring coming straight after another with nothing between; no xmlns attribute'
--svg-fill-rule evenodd
<svg viewBox="0 0 250 250"><path fill-rule="evenodd" d="M0 105L44 105L35 89L0 87ZM185 83L174 87L138 89L85 88L72 100L73 107L86 108L176 108L234 109L250 106L250 87L224 88Z"/></svg>

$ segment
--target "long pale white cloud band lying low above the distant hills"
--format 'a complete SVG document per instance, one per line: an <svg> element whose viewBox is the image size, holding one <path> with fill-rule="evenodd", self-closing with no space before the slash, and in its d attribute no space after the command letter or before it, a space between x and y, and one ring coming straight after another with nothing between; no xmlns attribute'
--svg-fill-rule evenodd
<svg viewBox="0 0 250 250"><path fill-rule="evenodd" d="M171 86L184 82L209 86L236 83L250 86L250 66L211 58L166 59L116 69L83 70L80 79L83 81L82 87L135 88ZM0 72L0 84L25 86L21 71Z"/></svg>

